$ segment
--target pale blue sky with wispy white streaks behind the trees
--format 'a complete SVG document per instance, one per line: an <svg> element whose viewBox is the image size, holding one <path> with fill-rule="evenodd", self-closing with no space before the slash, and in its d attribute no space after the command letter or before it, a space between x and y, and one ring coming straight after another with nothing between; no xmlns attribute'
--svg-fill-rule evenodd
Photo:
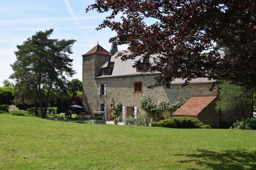
<svg viewBox="0 0 256 170"><path fill-rule="evenodd" d="M22 44L36 31L54 28L52 38L76 39L70 56L77 74L82 79L81 55L99 44L110 50L109 38L115 36L110 29L96 31L106 14L96 11L85 13L93 0L8 0L0 5L0 86L12 73L10 64L15 61L16 45ZM119 50L127 48L119 46ZM72 78L71 78L72 79Z"/></svg>

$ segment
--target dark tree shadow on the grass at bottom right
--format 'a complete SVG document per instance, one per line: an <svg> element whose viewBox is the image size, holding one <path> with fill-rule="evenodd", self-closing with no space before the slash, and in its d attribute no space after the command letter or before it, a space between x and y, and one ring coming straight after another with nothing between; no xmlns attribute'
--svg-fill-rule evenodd
<svg viewBox="0 0 256 170"><path fill-rule="evenodd" d="M188 157L180 163L195 162L201 167L210 169L256 169L256 151L223 151L213 152L207 150L198 150L199 154L183 155ZM197 168L190 168L196 170Z"/></svg>

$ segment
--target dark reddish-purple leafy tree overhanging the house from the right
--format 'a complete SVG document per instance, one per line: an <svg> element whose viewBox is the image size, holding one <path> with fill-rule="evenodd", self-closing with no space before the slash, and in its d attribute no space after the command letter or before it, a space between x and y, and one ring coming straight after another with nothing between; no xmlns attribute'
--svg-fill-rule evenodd
<svg viewBox="0 0 256 170"><path fill-rule="evenodd" d="M205 77L255 88L255 9L253 0L95 0L86 12L110 12L97 30L129 45L122 60L158 54L145 70L160 72L155 85Z"/></svg>

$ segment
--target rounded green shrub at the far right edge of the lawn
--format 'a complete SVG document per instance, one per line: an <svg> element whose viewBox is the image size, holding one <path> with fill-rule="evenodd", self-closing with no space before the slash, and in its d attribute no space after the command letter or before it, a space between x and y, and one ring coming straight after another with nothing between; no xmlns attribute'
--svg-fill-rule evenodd
<svg viewBox="0 0 256 170"><path fill-rule="evenodd" d="M256 129L256 118L237 120L230 129Z"/></svg>

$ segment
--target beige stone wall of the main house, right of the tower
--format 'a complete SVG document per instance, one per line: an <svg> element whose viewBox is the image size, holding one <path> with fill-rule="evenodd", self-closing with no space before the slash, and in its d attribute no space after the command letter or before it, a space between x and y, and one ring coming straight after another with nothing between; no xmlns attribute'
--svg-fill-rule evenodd
<svg viewBox="0 0 256 170"><path fill-rule="evenodd" d="M93 111L98 110L98 104L107 104L107 120L111 119L110 105L121 103L123 106L137 106L138 114L144 113L140 109L140 99L143 95L150 97L154 102L158 101L175 101L178 99L189 99L194 95L217 95L217 90L210 92L211 84L189 84L185 87L180 85L171 85L170 89L162 86L154 89L148 89L150 85L154 85L155 77L157 75L139 75L139 76L124 76L111 78L96 78L95 94L89 94L91 108ZM142 92L134 92L134 82L142 82ZM107 94L98 95L97 85L106 84ZM88 98L89 95L87 94Z"/></svg>

